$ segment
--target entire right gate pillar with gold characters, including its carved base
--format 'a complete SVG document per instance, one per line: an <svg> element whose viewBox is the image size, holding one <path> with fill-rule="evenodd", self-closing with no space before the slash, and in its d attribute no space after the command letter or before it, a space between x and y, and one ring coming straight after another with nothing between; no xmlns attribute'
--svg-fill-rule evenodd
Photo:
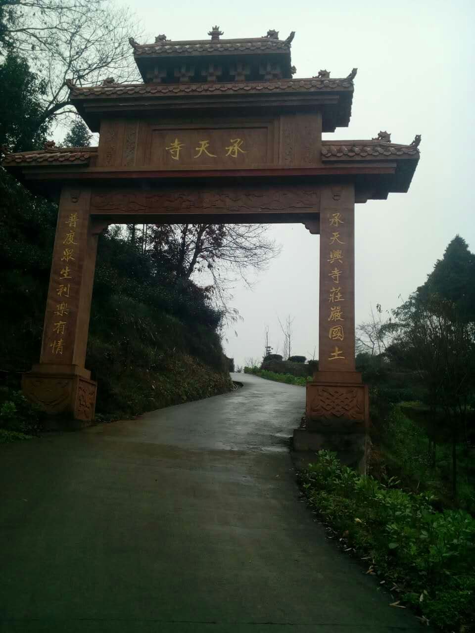
<svg viewBox="0 0 475 633"><path fill-rule="evenodd" d="M322 187L320 197L319 370L307 384L305 428L296 450L337 451L364 468L368 391L355 371L355 194Z"/></svg>

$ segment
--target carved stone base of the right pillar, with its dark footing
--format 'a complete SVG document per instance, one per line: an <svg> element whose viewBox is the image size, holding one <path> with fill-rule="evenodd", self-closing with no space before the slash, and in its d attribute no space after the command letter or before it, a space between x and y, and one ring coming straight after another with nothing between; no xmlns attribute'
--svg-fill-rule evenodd
<svg viewBox="0 0 475 633"><path fill-rule="evenodd" d="M335 451L338 458L365 471L368 387L358 372L316 372L307 384L305 422L294 430L295 451Z"/></svg>

